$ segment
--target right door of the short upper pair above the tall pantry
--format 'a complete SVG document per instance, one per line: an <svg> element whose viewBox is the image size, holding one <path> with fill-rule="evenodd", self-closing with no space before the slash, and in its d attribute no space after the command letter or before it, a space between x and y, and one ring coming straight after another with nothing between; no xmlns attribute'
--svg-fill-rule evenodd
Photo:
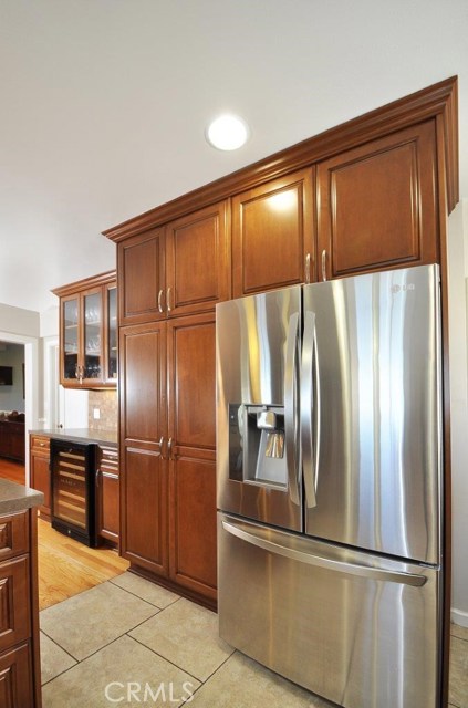
<svg viewBox="0 0 468 708"><path fill-rule="evenodd" d="M166 285L171 314L210 310L230 296L227 218L227 202L222 201L167 226Z"/></svg>

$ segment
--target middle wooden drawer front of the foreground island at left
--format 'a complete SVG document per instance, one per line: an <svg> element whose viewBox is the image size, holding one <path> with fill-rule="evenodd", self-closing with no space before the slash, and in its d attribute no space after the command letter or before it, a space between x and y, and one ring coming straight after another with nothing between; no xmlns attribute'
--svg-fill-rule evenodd
<svg viewBox="0 0 468 708"><path fill-rule="evenodd" d="M0 563L0 652L31 636L29 556Z"/></svg>

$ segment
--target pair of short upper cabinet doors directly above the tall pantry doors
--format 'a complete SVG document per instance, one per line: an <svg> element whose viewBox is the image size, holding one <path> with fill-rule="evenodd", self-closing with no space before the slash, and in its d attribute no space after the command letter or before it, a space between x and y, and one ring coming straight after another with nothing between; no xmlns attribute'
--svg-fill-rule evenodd
<svg viewBox="0 0 468 708"><path fill-rule="evenodd" d="M230 296L228 202L118 244L121 323L212 310Z"/></svg>

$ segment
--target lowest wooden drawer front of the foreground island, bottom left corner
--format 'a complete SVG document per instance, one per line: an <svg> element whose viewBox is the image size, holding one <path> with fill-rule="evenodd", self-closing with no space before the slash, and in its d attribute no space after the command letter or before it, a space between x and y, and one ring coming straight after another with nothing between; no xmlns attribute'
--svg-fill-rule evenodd
<svg viewBox="0 0 468 708"><path fill-rule="evenodd" d="M32 708L32 662L29 642L0 654L0 706Z"/></svg>

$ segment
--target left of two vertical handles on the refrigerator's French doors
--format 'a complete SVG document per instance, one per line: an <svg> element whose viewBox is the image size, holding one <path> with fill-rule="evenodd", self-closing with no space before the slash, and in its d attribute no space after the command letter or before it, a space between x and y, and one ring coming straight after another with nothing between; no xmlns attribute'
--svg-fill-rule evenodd
<svg viewBox="0 0 468 708"><path fill-rule="evenodd" d="M284 371L284 449L288 467L288 488L291 501L300 503L299 499L299 462L298 462L298 345L299 345L299 312L294 312L289 320L285 371Z"/></svg>

